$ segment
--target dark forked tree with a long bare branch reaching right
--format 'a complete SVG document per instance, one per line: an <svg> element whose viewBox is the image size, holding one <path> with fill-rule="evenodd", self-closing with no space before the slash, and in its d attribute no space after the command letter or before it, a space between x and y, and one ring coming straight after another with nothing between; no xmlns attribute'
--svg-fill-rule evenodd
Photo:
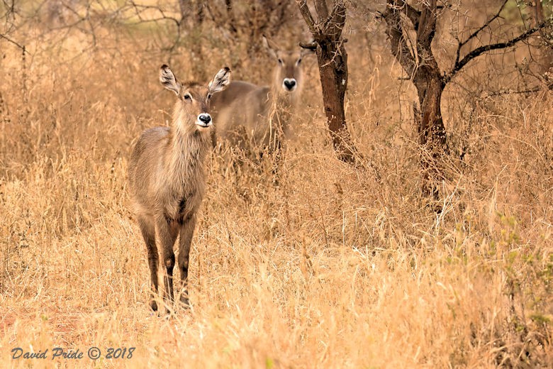
<svg viewBox="0 0 553 369"><path fill-rule="evenodd" d="M500 13L507 1L504 0L495 15L471 33L467 39L464 41L457 39L454 64L452 70L447 73L440 71L432 53L432 40L436 32L437 0L418 1L416 4L420 10L405 0L386 1L386 11L381 13L381 17L386 21L386 33L390 40L391 52L407 72L418 92L419 109L415 111L415 124L421 153L420 165L423 170L421 189L425 196L438 198L438 184L445 172L444 159L448 150L440 104L447 83L475 57L491 50L510 48L519 41L529 38L533 33L546 28L548 24L551 26L551 21L538 19L537 26L515 38L503 43L479 46L461 57L461 50L469 40L477 37L491 22L501 18ZM415 40L410 39L409 31L411 34L414 31Z"/></svg>

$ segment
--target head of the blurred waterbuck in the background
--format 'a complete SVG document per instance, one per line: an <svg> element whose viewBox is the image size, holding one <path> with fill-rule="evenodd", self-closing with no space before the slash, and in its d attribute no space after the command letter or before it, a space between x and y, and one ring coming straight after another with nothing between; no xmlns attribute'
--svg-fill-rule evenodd
<svg viewBox="0 0 553 369"><path fill-rule="evenodd" d="M301 90L303 83L302 60L311 50L280 50L277 45L263 36L263 45L269 55L277 62L274 67L273 88L279 93L293 93Z"/></svg>

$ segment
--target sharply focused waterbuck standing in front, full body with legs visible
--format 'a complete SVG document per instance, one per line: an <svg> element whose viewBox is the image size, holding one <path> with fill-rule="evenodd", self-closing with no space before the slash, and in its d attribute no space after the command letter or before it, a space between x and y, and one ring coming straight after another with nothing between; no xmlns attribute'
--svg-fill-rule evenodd
<svg viewBox="0 0 553 369"><path fill-rule="evenodd" d="M144 131L130 157L129 189L133 213L146 243L152 301L157 310L157 267L163 262L165 300L174 299L173 246L179 236L179 270L181 302L188 306L187 277L189 253L196 212L206 187L204 159L211 150L213 121L209 115L211 96L223 91L230 82L225 67L207 87L196 83L181 84L173 72L162 65L160 82L177 94L171 127L155 127ZM160 248L160 254L158 254Z"/></svg>

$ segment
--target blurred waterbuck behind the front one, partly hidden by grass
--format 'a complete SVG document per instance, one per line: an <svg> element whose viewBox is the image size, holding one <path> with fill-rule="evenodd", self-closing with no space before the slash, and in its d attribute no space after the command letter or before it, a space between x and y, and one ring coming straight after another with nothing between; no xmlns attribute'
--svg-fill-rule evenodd
<svg viewBox="0 0 553 369"><path fill-rule="evenodd" d="M311 51L279 50L264 36L263 43L275 62L272 84L231 82L228 89L213 97L213 116L218 138L242 148L247 148L249 141L253 148L275 150L281 145L281 137L289 136L291 114L300 103L303 89L302 59Z"/></svg>

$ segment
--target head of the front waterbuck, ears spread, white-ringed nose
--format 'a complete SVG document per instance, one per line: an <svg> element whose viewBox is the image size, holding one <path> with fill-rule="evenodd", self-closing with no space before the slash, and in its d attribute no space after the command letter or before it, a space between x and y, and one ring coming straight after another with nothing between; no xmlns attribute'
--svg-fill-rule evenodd
<svg viewBox="0 0 553 369"><path fill-rule="evenodd" d="M167 65L160 68L160 82L179 99L175 109L175 120L179 131L208 131L213 126L209 114L211 96L223 91L230 83L230 69L219 70L208 86L195 82L181 84Z"/></svg>

